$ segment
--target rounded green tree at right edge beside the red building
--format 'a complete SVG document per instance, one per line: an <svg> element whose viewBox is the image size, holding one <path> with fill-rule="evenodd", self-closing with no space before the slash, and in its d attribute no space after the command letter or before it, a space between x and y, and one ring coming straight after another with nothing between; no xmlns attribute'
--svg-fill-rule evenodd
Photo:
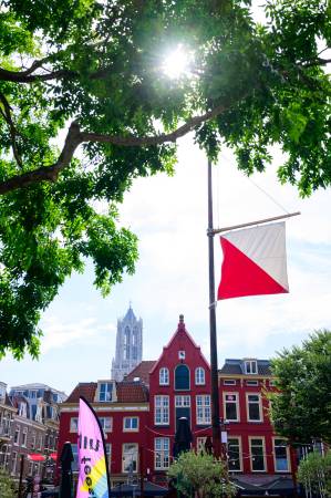
<svg viewBox="0 0 331 498"><path fill-rule="evenodd" d="M279 392L271 395L276 432L292 443L331 442L331 333L317 331L302 346L272 360Z"/></svg>

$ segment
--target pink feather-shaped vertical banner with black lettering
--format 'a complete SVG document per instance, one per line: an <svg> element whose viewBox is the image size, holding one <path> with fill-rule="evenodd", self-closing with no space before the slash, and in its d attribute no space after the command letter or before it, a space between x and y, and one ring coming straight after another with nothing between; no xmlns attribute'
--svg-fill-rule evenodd
<svg viewBox="0 0 331 498"><path fill-rule="evenodd" d="M80 397L79 484L76 498L108 498L108 466L100 421L85 398Z"/></svg>

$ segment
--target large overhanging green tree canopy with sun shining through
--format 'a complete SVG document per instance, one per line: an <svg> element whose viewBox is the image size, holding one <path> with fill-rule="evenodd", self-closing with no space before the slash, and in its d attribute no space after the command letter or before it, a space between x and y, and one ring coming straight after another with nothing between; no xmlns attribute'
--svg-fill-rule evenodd
<svg viewBox="0 0 331 498"><path fill-rule="evenodd" d="M189 131L247 174L280 144L281 181L330 185L330 7L269 0L266 15L249 0L0 1L0 353L38 354L40 313L85 258L104 293L134 271L116 205L173 172ZM169 80L178 44L194 62Z"/></svg>

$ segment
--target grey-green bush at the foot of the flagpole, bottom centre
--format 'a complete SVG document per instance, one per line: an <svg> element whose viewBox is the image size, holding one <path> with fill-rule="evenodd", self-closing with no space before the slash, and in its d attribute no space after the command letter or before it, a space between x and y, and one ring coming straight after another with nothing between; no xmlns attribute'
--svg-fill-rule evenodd
<svg viewBox="0 0 331 498"><path fill-rule="evenodd" d="M228 481L223 461L206 453L182 453L170 465L168 477L184 496L216 498L236 495L236 488Z"/></svg>

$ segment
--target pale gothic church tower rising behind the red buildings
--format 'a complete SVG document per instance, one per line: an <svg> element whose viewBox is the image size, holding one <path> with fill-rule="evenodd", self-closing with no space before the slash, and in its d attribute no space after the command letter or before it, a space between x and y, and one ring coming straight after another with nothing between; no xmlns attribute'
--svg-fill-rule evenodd
<svg viewBox="0 0 331 498"><path fill-rule="evenodd" d="M117 320L116 353L112 362L112 378L120 382L143 356L143 320L137 320L132 307Z"/></svg>

